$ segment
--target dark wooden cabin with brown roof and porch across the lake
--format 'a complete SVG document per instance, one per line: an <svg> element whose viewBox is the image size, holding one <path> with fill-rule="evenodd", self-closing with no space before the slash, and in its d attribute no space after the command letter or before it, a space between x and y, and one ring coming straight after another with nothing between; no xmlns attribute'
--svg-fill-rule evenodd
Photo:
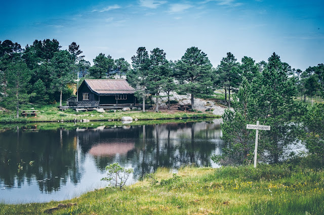
<svg viewBox="0 0 324 215"><path fill-rule="evenodd" d="M71 107L108 108L111 106L135 106L135 89L125 79L85 79L76 97L68 99Z"/></svg>

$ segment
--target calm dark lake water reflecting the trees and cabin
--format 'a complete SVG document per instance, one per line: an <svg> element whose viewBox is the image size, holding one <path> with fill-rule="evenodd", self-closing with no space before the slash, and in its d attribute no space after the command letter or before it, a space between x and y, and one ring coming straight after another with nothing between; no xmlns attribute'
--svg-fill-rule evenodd
<svg viewBox="0 0 324 215"><path fill-rule="evenodd" d="M63 200L105 187L100 179L115 162L134 169L134 183L158 167L216 167L210 157L221 153L219 120L75 127L1 132L0 202Z"/></svg>

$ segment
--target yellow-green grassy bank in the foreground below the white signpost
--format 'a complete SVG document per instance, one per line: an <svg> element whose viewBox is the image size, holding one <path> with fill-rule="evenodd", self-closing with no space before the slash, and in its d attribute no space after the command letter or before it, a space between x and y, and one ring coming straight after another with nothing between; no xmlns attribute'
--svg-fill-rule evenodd
<svg viewBox="0 0 324 215"><path fill-rule="evenodd" d="M323 214L324 172L289 165L185 167L176 176L159 169L120 191L100 189L61 202L0 204L0 214L42 214L59 203L76 203L57 214Z"/></svg>

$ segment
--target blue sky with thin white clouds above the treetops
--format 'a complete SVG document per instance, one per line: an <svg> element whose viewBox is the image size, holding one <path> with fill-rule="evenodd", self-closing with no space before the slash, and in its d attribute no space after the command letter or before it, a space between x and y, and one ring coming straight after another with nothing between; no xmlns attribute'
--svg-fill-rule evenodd
<svg viewBox="0 0 324 215"><path fill-rule="evenodd" d="M256 63L275 52L305 70L324 63L323 11L322 0L11 0L0 5L0 40L76 42L92 64L99 53L132 63L141 46L173 61L195 46L213 67L227 52Z"/></svg>

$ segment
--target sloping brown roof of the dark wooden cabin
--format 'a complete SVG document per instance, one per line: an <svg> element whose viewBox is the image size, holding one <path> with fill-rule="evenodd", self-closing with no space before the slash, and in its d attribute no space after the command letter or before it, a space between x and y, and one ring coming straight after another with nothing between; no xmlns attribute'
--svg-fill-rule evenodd
<svg viewBox="0 0 324 215"><path fill-rule="evenodd" d="M125 79L85 79L96 94L133 94L135 89Z"/></svg>

